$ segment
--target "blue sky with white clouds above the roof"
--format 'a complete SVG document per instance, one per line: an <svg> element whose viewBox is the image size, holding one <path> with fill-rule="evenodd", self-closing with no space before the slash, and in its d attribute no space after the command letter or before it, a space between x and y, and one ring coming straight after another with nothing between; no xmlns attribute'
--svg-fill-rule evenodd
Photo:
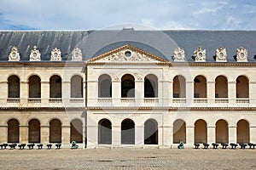
<svg viewBox="0 0 256 170"><path fill-rule="evenodd" d="M256 30L254 0L0 0L0 30Z"/></svg>

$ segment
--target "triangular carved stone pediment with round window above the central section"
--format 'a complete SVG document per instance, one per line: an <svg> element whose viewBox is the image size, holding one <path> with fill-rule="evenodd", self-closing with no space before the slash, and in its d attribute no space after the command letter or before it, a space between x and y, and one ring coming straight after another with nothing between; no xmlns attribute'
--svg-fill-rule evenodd
<svg viewBox="0 0 256 170"><path fill-rule="evenodd" d="M157 55L148 53L147 51L126 44L122 47L115 48L105 54L98 55L88 60L87 63L116 63L116 62L132 62L132 63L166 63L167 59L163 59Z"/></svg>

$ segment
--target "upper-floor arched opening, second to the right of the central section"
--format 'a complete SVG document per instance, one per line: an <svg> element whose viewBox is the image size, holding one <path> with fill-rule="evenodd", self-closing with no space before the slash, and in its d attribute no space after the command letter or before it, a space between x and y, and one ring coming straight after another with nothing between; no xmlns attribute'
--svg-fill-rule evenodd
<svg viewBox="0 0 256 170"><path fill-rule="evenodd" d="M194 79L194 98L207 98L207 79L197 76Z"/></svg>

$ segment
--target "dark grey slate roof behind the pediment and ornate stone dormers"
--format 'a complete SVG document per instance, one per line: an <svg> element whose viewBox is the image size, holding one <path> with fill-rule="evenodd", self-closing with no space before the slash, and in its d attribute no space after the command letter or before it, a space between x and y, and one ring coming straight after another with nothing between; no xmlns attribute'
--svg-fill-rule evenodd
<svg viewBox="0 0 256 170"><path fill-rule="evenodd" d="M194 50L207 50L207 62L215 62L216 49L227 50L228 61L236 62L236 48L247 48L248 61L256 62L256 31L0 31L0 61L7 62L12 46L20 52L20 62L29 60L34 45L43 61L49 61L52 49L61 49L62 60L70 60L79 47L83 60L131 44L172 61L173 51L184 48L186 60L194 62Z"/></svg>

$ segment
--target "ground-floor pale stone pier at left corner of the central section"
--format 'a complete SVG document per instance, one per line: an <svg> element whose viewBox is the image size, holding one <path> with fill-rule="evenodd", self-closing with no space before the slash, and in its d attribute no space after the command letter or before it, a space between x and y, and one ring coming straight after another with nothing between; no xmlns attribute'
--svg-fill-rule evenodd
<svg viewBox="0 0 256 170"><path fill-rule="evenodd" d="M87 148L96 148L98 144L98 127L87 125Z"/></svg>

